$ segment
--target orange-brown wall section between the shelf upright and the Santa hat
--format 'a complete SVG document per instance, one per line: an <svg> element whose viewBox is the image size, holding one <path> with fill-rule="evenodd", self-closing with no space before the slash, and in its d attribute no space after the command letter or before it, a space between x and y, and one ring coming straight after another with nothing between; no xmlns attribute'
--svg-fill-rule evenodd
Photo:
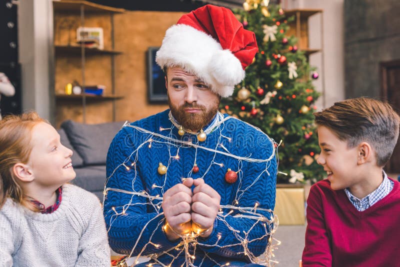
<svg viewBox="0 0 400 267"><path fill-rule="evenodd" d="M166 104L147 100L147 60L149 46L160 46L165 30L176 23L183 12L126 11L114 16L116 120L134 121L160 112Z"/></svg>

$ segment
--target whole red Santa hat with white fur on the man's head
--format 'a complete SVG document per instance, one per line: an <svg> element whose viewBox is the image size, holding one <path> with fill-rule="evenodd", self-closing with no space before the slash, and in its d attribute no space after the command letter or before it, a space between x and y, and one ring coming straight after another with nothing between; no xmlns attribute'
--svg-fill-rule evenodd
<svg viewBox="0 0 400 267"><path fill-rule="evenodd" d="M254 32L244 29L230 9L207 4L166 30L155 61L161 68L181 67L227 97L257 51Z"/></svg>

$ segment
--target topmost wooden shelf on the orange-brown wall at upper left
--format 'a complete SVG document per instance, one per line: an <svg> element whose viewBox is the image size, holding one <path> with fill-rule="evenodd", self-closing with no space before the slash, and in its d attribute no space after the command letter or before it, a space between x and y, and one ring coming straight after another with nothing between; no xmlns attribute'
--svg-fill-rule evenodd
<svg viewBox="0 0 400 267"><path fill-rule="evenodd" d="M122 13L125 11L123 8L110 7L84 0L53 0L55 12L80 12L81 5L83 5L84 11L88 13Z"/></svg>

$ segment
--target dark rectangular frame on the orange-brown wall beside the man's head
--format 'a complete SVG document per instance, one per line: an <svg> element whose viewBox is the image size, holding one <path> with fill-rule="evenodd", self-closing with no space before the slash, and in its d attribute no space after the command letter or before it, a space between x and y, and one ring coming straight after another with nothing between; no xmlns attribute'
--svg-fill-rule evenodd
<svg viewBox="0 0 400 267"><path fill-rule="evenodd" d="M148 47L147 50L147 91L150 103L167 103L164 72L155 62L155 53L159 47Z"/></svg>

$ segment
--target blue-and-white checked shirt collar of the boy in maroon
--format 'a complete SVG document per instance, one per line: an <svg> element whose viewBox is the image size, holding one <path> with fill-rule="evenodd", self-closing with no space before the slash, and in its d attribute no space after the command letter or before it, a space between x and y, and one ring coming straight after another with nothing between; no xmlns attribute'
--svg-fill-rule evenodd
<svg viewBox="0 0 400 267"><path fill-rule="evenodd" d="M377 201L385 197L392 189L393 189L393 181L387 178L386 172L382 171L383 181L380 183L378 188L376 188L373 192L368 194L362 199L358 199L347 188L344 189L348 199L350 200L351 204L358 210L364 211L368 207L375 204Z"/></svg>

